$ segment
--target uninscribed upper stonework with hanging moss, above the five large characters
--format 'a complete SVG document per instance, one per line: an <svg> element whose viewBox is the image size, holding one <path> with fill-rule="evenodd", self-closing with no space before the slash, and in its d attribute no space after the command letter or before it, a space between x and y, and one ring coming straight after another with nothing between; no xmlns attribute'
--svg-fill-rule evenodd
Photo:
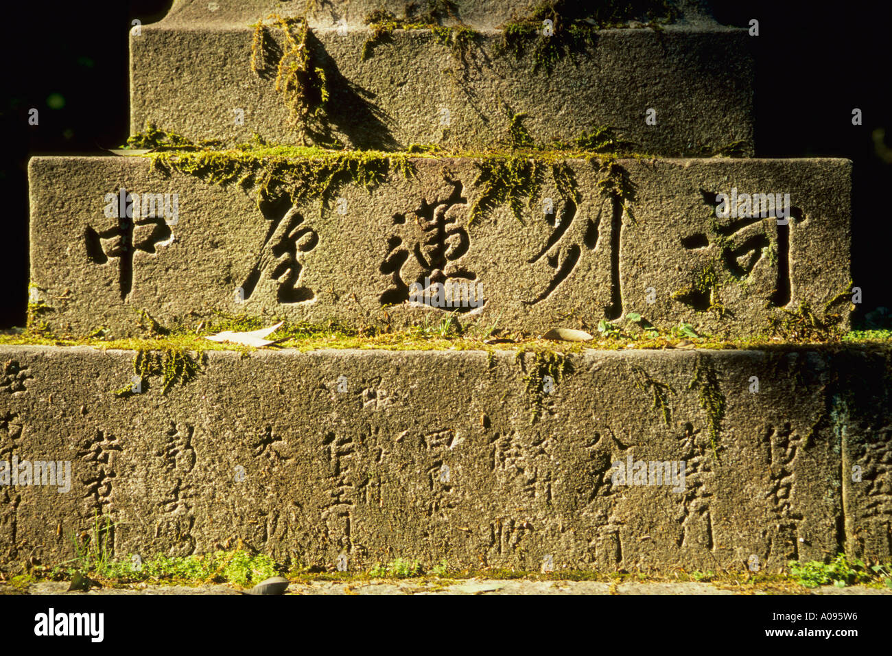
<svg viewBox="0 0 892 656"><path fill-rule="evenodd" d="M747 30L685 0L529 3L184 0L131 31L131 133L154 124L230 146L258 135L337 150L754 154ZM632 29L602 29L622 27Z"/></svg>

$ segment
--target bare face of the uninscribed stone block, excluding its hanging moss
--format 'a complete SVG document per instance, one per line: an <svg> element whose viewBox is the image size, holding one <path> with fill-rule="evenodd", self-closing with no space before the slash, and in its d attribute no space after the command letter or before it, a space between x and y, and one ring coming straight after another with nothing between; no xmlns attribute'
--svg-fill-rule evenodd
<svg viewBox="0 0 892 656"><path fill-rule="evenodd" d="M516 112L540 145L612 126L634 152L702 156L740 142L741 154L753 154L753 64L743 29L603 30L588 54L567 55L550 74L533 73L529 52L519 61L500 52L500 32L481 34L461 57L430 30L400 29L363 61L370 35L325 29L308 39L331 96L326 127L316 131L350 147L504 146ZM270 37L285 45L279 30ZM193 139L237 144L257 133L301 143L276 91L276 62L252 71L251 49L246 26L145 26L130 37L131 131L151 121ZM646 122L648 109L657 125Z"/></svg>

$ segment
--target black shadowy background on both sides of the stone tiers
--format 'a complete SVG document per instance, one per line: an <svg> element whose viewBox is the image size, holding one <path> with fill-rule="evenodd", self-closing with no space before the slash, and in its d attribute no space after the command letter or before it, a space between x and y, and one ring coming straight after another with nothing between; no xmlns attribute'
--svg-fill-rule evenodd
<svg viewBox="0 0 892 656"><path fill-rule="evenodd" d="M124 142L130 21L158 21L170 4L43 0L4 6L0 328L25 323L29 157L96 154ZM871 137L874 129L887 129L886 143L892 147L892 3L714 0L712 6L724 24L746 27L751 18L759 21L760 36L752 40L757 156L832 156L855 162L852 268L855 286L863 288L861 310L892 307L886 279L892 164L876 154ZM47 104L55 94L64 99L61 109ZM37 127L28 124L32 107L40 112ZM863 111L860 127L852 125L855 107Z"/></svg>

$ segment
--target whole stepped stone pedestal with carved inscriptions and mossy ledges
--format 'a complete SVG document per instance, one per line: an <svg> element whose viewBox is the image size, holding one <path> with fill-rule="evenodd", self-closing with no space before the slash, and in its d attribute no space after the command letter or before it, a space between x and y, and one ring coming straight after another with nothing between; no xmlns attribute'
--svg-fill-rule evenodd
<svg viewBox="0 0 892 656"><path fill-rule="evenodd" d="M751 158L747 32L531 4L175 2L131 34L151 152L29 164L42 334L848 328L851 162ZM0 566L70 559L96 516L128 560L892 555L888 345L156 356L0 345Z"/></svg>

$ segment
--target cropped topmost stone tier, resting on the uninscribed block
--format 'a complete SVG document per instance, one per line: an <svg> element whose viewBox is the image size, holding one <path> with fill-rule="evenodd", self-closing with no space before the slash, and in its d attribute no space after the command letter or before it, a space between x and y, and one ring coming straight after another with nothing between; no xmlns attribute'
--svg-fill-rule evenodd
<svg viewBox="0 0 892 656"><path fill-rule="evenodd" d="M406 21L497 29L549 4L559 13L586 12L614 25L669 17L686 25L714 25L698 0L175 0L163 22L171 27L196 22L234 27L277 13L306 16L311 28L333 28L362 26L373 12L390 12Z"/></svg>

